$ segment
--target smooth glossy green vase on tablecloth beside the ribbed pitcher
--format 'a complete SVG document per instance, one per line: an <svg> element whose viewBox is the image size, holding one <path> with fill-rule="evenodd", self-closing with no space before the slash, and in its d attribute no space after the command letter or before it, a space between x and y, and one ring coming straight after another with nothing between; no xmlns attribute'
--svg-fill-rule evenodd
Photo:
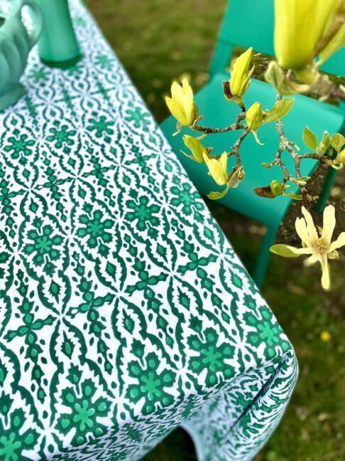
<svg viewBox="0 0 345 461"><path fill-rule="evenodd" d="M43 13L44 28L38 42L40 59L46 65L68 68L81 58L72 25L68 0L35 0Z"/></svg>

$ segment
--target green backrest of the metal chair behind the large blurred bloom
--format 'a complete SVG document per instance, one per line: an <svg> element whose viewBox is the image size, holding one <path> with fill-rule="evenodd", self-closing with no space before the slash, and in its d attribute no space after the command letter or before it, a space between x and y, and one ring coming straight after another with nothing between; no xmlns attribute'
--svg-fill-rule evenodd
<svg viewBox="0 0 345 461"><path fill-rule="evenodd" d="M230 0L211 64L211 75L223 72L229 65L236 45L253 46L255 51L274 56L273 31L274 0ZM322 70L345 76L345 47L334 53Z"/></svg>

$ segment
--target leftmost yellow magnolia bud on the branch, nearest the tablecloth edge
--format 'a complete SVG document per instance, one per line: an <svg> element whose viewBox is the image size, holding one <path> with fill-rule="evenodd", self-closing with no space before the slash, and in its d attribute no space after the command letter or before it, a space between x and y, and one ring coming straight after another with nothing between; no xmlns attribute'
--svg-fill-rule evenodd
<svg viewBox="0 0 345 461"><path fill-rule="evenodd" d="M171 114L182 127L190 127L195 121L195 104L193 90L187 78L182 80L182 86L177 82L171 85L171 97L165 96L165 102Z"/></svg>

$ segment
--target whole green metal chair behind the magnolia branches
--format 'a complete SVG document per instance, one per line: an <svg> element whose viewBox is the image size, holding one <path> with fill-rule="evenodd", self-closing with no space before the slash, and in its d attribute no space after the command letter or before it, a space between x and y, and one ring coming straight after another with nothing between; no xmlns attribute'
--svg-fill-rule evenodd
<svg viewBox="0 0 345 461"><path fill-rule="evenodd" d="M234 46L249 48L253 46L254 51L274 55L273 49L273 27L274 27L274 6L273 0L231 0L226 11L223 25L219 36L214 58L212 60L209 83L195 96L199 106L200 115L207 115L202 120L204 125L213 127L225 127L234 121L239 113L239 108L234 103L225 100L222 93L222 82L229 80L229 66L231 53ZM325 63L322 70L336 75L345 75L345 50L344 48L335 53L332 58ZM251 87L246 92L246 106L250 107L253 102L259 101L263 108L273 106L276 92L267 83L253 80ZM325 102L313 100L310 97L297 95L292 111L284 118L284 129L289 139L302 147L302 130L308 124L310 129L321 139L324 129L330 134L334 132L344 132L345 121L344 105L335 107ZM182 136L172 137L176 129L176 120L169 117L161 128L168 137L172 149L179 155L180 161L184 166L200 194L206 195L209 191L219 190L213 179L207 175L207 168L204 164L197 164L195 161L187 159L180 153L180 149L185 150ZM190 129L185 129L185 133L195 134ZM229 208L242 213L249 218L263 223L267 230L261 248L258 253L256 268L253 279L258 286L261 286L265 277L265 272L270 259L270 246L275 242L281 221L285 216L291 200L288 197L277 197L274 199L262 198L253 192L255 186L267 186L273 179L282 179L281 171L278 167L265 169L261 166L263 161L271 161L277 149L278 134L275 131L275 124L263 125L258 130L258 136L264 146L259 146L253 137L246 137L241 144L241 152L246 179L236 189L231 189L229 193L220 201ZM214 152L224 152L229 146L234 144L238 134L228 132L226 134L210 134L204 139L206 147L214 147ZM307 148L306 148L307 149ZM283 154L283 159L289 169L292 163L288 153ZM229 166L232 165L232 157L229 159ZM304 176L310 176L316 161L307 159L301 164L301 172ZM335 176L335 170L327 174L324 189L319 197L319 209L324 208L324 204L329 196ZM291 191L293 189L290 187Z"/></svg>

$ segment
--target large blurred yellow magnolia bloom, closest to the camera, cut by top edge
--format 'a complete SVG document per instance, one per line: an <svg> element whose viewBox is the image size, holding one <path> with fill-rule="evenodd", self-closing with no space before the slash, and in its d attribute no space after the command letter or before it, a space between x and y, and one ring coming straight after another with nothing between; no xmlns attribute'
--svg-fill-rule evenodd
<svg viewBox="0 0 345 461"><path fill-rule="evenodd" d="M312 62L341 0L275 0L275 56L285 68Z"/></svg>

